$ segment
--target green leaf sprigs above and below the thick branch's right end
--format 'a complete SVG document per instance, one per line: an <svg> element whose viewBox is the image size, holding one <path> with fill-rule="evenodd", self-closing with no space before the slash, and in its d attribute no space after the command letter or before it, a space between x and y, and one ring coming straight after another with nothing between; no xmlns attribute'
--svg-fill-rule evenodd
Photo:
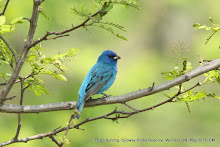
<svg viewBox="0 0 220 147"><path fill-rule="evenodd" d="M174 52L176 55L175 58L177 59L177 61L182 62L182 68L180 68L179 63L177 63L177 65L174 67L174 70L161 73L163 75L163 78L168 79L168 80L173 80L174 78L177 78L189 72L190 69L192 68L191 63L186 60L188 59L188 57L183 56L187 51L189 51L187 49L188 46L183 47L183 44L184 42L180 42L180 41L179 43L173 42L174 48L172 49L172 52ZM204 76L206 78L202 84L217 82L220 86L220 71L219 70L212 70L209 73L205 73ZM182 84L180 84L179 86L176 86L176 88L178 89L178 92L182 92L185 90ZM176 93L172 93L171 96L167 94L164 94L164 95L170 98L176 95ZM193 102L199 99L204 99L205 97L213 97L213 98L218 98L218 99L220 98L215 93L209 94L206 91L195 92L192 90L188 90L187 92L182 93L179 96L177 96L174 102L184 102L187 106L188 111L191 112L191 107L189 105L189 102Z"/></svg>

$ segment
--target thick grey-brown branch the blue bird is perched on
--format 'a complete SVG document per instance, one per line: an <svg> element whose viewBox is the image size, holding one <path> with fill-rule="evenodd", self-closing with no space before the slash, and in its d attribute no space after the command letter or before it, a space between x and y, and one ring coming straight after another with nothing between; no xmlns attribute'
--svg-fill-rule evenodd
<svg viewBox="0 0 220 147"><path fill-rule="evenodd" d="M181 83L189 81L203 73L215 70L220 67L220 59L213 60L211 62L205 63L200 67L188 72L180 77L177 77L166 83L154 86L153 89L146 88L143 90L138 90L121 96L108 97L105 99L94 99L86 102L85 107L94 107L99 105L108 105L115 103L122 103L138 99L144 96L152 95L164 90L168 90L174 86L177 86ZM50 111L59 111L59 110L70 110L74 109L76 102L60 102L60 103L50 103L42 105L13 105L13 104L2 104L0 105L0 112L4 113L40 113L40 112L50 112Z"/></svg>

